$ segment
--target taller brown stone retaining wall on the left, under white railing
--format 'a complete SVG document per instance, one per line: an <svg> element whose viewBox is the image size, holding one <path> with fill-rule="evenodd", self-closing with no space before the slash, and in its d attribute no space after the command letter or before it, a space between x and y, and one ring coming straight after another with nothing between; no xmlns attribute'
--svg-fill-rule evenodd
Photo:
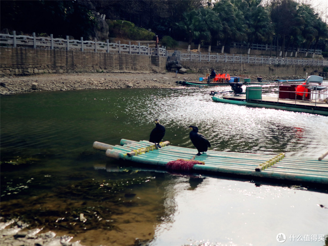
<svg viewBox="0 0 328 246"><path fill-rule="evenodd" d="M1 76L71 72L153 72L154 68L151 56L137 54L1 47L0 55ZM156 68L156 72L165 71L166 57L158 57L158 60L160 66Z"/></svg>

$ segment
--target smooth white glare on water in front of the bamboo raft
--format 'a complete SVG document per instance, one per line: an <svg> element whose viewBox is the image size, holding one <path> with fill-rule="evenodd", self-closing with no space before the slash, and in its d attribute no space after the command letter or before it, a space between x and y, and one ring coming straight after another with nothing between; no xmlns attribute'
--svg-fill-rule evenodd
<svg viewBox="0 0 328 246"><path fill-rule="evenodd" d="M278 233L286 245L323 245L292 236L326 235L328 214L316 202L326 204L327 194L209 177L191 189L191 178L179 179L166 202L177 211L156 227L150 246L278 245Z"/></svg>

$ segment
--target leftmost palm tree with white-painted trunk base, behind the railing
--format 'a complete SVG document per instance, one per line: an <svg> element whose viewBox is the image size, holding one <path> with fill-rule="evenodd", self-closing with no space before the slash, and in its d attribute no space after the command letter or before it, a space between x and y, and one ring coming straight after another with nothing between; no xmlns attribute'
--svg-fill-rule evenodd
<svg viewBox="0 0 328 246"><path fill-rule="evenodd" d="M182 20L175 23L175 27L185 33L186 39L188 40L187 51L190 51L193 39L200 36L200 30L203 27L197 11L192 10L190 12L184 12L182 14Z"/></svg>

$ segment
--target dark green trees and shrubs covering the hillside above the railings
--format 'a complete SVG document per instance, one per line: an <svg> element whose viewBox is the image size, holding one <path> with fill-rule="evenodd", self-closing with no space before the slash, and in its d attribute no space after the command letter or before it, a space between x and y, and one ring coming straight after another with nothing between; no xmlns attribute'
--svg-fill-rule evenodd
<svg viewBox="0 0 328 246"><path fill-rule="evenodd" d="M297 0L184 0L0 1L3 32L46 33L105 41L116 37L154 40L168 47L192 42L198 51L233 42L328 51L328 26L308 1ZM249 53L249 51L248 51ZM276 53L278 56L278 51Z"/></svg>

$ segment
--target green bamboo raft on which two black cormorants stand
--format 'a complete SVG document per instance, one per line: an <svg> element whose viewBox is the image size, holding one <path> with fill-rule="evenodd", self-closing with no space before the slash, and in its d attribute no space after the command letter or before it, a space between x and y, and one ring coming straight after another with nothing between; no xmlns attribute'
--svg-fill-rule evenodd
<svg viewBox="0 0 328 246"><path fill-rule="evenodd" d="M196 149L169 144L169 141L161 142L161 148L156 149L153 143L146 140L137 142L121 139L120 145L94 142L93 148L106 151L106 156L110 158L162 168L176 160L195 161L190 170L192 173L241 175L280 181L328 184L328 160L289 157L284 153L270 155L213 150L196 156Z"/></svg>

